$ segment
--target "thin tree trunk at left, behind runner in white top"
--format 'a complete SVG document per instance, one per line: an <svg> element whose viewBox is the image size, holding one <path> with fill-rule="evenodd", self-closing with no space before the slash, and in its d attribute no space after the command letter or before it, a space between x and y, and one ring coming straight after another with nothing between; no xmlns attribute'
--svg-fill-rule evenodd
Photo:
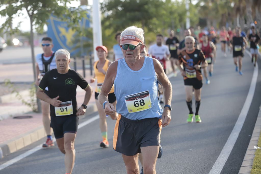
<svg viewBox="0 0 261 174"><path fill-rule="evenodd" d="M29 14L28 14L29 15ZM32 56L32 63L33 63L33 77L34 77L34 82L35 82L35 77L36 77L36 70L35 70L35 59L34 59L34 35L33 35L33 17L32 15L29 15L29 18L30 18L30 46L31 46L31 56ZM36 86L36 89L38 88L38 86ZM38 109L38 112L41 112L41 103L40 103L40 100L39 98L36 98L36 101L37 101L37 109Z"/></svg>

